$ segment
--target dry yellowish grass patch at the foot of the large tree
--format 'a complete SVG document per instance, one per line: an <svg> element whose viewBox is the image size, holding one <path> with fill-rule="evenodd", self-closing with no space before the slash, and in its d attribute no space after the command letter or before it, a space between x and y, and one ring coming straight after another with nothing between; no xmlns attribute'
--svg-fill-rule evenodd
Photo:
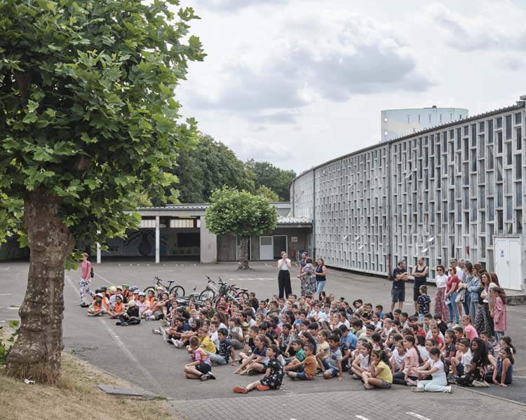
<svg viewBox="0 0 526 420"><path fill-rule="evenodd" d="M6 335L6 327L0 335ZM9 420L174 420L164 400L137 400L107 395L98 384L131 386L97 367L62 353L62 379L57 386L28 385L6 377L0 367L0 419Z"/></svg>

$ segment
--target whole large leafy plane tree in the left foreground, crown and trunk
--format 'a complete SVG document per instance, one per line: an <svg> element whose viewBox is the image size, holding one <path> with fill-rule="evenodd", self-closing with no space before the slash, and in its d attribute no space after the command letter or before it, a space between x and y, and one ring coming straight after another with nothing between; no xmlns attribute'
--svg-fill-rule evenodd
<svg viewBox="0 0 526 420"><path fill-rule="evenodd" d="M174 92L204 54L178 3L0 1L0 239L20 221L31 250L13 377L58 381L75 244L136 225L128 197L163 195L196 137Z"/></svg>

